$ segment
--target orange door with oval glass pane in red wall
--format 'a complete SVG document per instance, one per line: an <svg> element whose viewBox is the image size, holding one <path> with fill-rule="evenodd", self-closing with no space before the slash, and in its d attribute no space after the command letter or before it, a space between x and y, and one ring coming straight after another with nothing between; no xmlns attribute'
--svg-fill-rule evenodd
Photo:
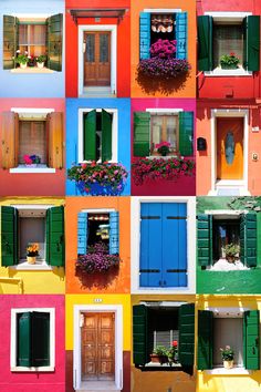
<svg viewBox="0 0 261 392"><path fill-rule="evenodd" d="M217 118L217 178L243 179L243 118Z"/></svg>

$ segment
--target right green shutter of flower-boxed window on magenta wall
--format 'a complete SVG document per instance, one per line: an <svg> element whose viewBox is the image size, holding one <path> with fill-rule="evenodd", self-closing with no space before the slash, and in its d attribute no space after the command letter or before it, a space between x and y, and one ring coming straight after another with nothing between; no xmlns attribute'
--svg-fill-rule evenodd
<svg viewBox="0 0 261 392"><path fill-rule="evenodd" d="M179 113L179 152L182 156L194 155L194 112Z"/></svg>

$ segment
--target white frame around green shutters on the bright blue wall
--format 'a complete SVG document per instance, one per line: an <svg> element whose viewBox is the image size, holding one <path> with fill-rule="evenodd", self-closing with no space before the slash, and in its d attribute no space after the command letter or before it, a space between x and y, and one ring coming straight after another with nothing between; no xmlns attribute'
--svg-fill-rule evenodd
<svg viewBox="0 0 261 392"><path fill-rule="evenodd" d="M112 114L112 159L108 162L112 163L117 163L118 161L118 110L117 109L108 109L108 107L104 107L103 109L105 112ZM92 111L96 111L96 112L102 112L102 107L84 107L84 109L79 109L79 135L77 135L77 159L79 163L83 163L83 162L90 162L90 161L84 161L83 159L83 140L84 140L84 132L83 132L83 116L84 113L90 113ZM101 163L102 161L97 161L98 163Z"/></svg>

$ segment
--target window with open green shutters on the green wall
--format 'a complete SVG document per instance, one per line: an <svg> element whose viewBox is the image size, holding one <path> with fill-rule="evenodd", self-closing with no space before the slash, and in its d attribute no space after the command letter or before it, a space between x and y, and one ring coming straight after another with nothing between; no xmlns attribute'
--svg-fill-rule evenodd
<svg viewBox="0 0 261 392"><path fill-rule="evenodd" d="M233 264L226 259L225 246L239 246ZM257 267L257 214L198 215L198 264L202 269L231 270Z"/></svg>

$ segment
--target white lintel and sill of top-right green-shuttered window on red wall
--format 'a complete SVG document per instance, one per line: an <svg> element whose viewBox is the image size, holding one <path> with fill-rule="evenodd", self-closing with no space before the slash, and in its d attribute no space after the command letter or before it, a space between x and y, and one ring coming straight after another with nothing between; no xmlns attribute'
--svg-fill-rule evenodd
<svg viewBox="0 0 261 392"><path fill-rule="evenodd" d="M252 12L205 12L205 16L213 18L213 22L242 22L243 18L252 16ZM246 71L243 68L237 70L222 70L216 68L212 71L203 71L206 76L252 76L252 71Z"/></svg>

